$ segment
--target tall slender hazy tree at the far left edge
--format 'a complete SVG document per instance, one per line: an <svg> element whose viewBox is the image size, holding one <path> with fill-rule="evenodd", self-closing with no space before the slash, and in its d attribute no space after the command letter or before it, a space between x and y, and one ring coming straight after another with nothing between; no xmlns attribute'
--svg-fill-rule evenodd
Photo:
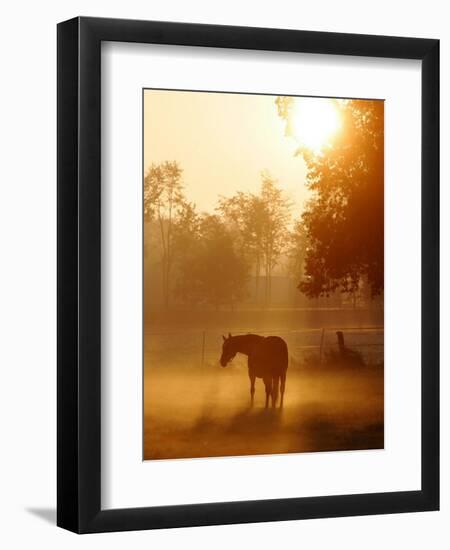
<svg viewBox="0 0 450 550"><path fill-rule="evenodd" d="M159 228L163 300L169 307L174 261L173 229L185 207L182 170L176 161L152 164L144 179L144 217Z"/></svg>

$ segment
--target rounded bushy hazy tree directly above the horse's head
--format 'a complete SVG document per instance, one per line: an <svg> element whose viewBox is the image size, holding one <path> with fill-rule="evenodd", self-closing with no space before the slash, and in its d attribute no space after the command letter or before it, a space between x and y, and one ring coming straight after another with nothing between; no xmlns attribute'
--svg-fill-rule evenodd
<svg viewBox="0 0 450 550"><path fill-rule="evenodd" d="M216 215L203 215L195 243L180 262L177 294L191 305L233 308L244 297L247 278L247 263L234 249L226 225Z"/></svg>

